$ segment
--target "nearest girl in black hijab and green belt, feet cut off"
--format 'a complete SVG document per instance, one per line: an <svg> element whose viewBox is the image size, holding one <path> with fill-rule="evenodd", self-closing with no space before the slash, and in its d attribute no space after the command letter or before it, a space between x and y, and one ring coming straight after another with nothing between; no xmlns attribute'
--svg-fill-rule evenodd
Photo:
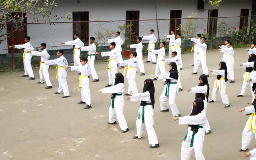
<svg viewBox="0 0 256 160"><path fill-rule="evenodd" d="M204 101L201 98L194 100L190 116L172 117L172 120L179 120L179 124L187 124L188 129L182 141L180 157L181 159L190 159L195 150L196 160L204 160L204 124L206 116L203 112Z"/></svg>

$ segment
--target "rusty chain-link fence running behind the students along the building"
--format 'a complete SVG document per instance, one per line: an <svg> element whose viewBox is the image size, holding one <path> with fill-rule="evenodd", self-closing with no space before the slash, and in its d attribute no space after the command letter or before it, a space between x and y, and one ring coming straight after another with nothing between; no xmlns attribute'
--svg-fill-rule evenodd
<svg viewBox="0 0 256 160"><path fill-rule="evenodd" d="M225 39L233 42L233 45L252 43L256 36L256 24L251 19L253 16L241 17L210 17L210 18L185 18L185 19L160 19L160 20L123 20L123 21L79 21L79 22L57 22L57 23L17 23L0 24L0 71L8 69L23 68L22 52L19 49L10 49L9 45L24 44L25 36L30 36L31 45L35 50L40 49L41 43L47 44L47 51L51 55L50 59L57 58L57 50L63 49L64 56L69 63L73 62L73 46L65 46L61 42L73 40L74 33L79 33L79 38L85 46L89 44L89 38L95 37L97 52L109 51L109 44L105 40L114 38L115 32L119 31L120 37L124 40L122 45L124 50L129 50L126 46L135 44L139 36L148 36L149 30L154 29L157 43L155 48L159 48L159 42L167 41L164 35L180 32L182 52L189 51L193 42L188 37L195 37L202 34L206 37L208 49L218 48ZM143 54L147 54L148 41L142 39ZM168 52L168 43L166 44ZM130 51L131 52L131 51ZM81 52L81 57L87 52ZM96 59L102 59L96 56ZM31 65L38 67L40 57L33 56Z"/></svg>

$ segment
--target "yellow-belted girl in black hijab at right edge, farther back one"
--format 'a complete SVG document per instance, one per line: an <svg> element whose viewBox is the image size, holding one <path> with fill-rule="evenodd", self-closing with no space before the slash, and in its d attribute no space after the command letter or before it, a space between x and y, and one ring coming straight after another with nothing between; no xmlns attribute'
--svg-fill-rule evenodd
<svg viewBox="0 0 256 160"><path fill-rule="evenodd" d="M254 68L254 66L256 65L254 63L255 61L256 61L256 55L252 53L249 55L248 62L240 64L240 66L243 66L243 68L246 68L246 69L245 69L245 73L243 76L244 79L243 79L242 89L241 89L241 92L237 95L237 97L244 97L244 93L246 91L247 84L251 85L250 88L251 88L251 92L252 92L252 97L254 97L254 92L252 91L252 83L250 83L247 80L252 79L253 77L256 76L256 71L255 71L256 68Z"/></svg>

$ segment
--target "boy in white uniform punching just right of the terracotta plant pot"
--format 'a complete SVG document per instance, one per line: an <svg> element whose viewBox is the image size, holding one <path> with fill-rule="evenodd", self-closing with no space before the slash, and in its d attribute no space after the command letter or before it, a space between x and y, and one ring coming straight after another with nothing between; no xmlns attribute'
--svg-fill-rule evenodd
<svg viewBox="0 0 256 160"><path fill-rule="evenodd" d="M131 44L131 45L127 45L127 48L130 47L130 48L136 48L136 53L137 53L137 61L138 61L138 64L139 64L139 68L140 68L140 76L144 76L145 75L145 68L144 68L144 63L143 63L143 60L142 60L142 49L143 49L143 45L141 43L141 40L142 38L141 37L138 37L137 38L137 43L138 44Z"/></svg>

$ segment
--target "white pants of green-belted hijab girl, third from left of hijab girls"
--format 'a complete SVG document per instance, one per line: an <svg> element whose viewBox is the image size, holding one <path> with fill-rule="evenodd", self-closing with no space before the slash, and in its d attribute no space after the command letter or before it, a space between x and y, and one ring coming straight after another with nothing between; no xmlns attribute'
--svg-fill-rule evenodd
<svg viewBox="0 0 256 160"><path fill-rule="evenodd" d="M166 91L167 84L164 85L164 91L160 95L159 101L160 101L160 108L161 110L166 110L169 109L167 106L167 100L169 99L169 105L172 110L172 115L177 116L180 114L176 104L175 104L175 98L178 94L178 85L177 84L170 84L169 88L169 98L165 96L165 91Z"/></svg>

